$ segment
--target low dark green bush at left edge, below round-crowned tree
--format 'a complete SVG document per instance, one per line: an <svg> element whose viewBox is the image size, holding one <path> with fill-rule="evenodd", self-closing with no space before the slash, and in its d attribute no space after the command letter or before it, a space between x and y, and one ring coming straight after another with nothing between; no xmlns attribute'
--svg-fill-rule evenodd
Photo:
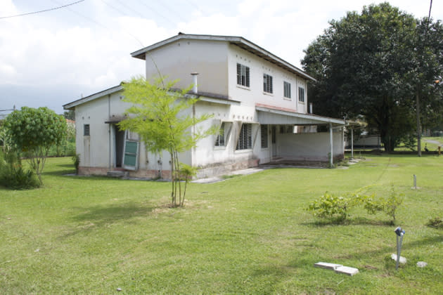
<svg viewBox="0 0 443 295"><path fill-rule="evenodd" d="M23 169L15 152L0 152L0 185L13 190L38 188L40 182L31 170Z"/></svg>

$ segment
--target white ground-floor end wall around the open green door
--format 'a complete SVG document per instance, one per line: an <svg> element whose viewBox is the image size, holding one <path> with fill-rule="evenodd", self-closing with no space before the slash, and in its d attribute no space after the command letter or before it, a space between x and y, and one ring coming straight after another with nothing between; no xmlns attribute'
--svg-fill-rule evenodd
<svg viewBox="0 0 443 295"><path fill-rule="evenodd" d="M90 102L77 105L75 107L76 124L76 150L80 155L79 173L106 175L109 171L122 169L117 166L117 153L122 153L117 149L116 124L106 122L118 122L124 119L124 111L129 107L128 103L122 101L121 93L113 93L103 96ZM84 136L84 125L89 125L89 136ZM123 140L124 137L120 138ZM139 140L139 152L137 155L138 169L128 171L129 176L156 178L162 176L169 177L171 169L168 152L153 153L148 152ZM123 145L123 142L121 143ZM179 155L180 161L191 164L191 151Z"/></svg>

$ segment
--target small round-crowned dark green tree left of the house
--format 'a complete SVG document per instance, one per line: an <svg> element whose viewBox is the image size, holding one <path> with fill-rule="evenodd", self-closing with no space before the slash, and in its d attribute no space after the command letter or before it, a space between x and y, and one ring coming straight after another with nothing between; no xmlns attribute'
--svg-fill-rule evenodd
<svg viewBox="0 0 443 295"><path fill-rule="evenodd" d="M6 136L12 145L26 152L30 166L41 182L41 171L52 145L58 145L66 136L66 121L47 107L22 107L8 114L4 122Z"/></svg>

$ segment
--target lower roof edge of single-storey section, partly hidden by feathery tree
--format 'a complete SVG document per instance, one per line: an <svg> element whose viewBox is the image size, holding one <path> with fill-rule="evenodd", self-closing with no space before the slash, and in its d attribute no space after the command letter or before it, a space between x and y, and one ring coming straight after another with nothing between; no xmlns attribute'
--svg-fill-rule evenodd
<svg viewBox="0 0 443 295"><path fill-rule="evenodd" d="M179 89L171 89L172 91L178 91ZM72 103L67 103L63 105L63 110L74 110L77 105L82 105L83 103L88 103L91 100L96 100L97 98L101 98L103 96L108 96L113 93L117 93L123 91L122 85L117 85L111 87L110 89L105 89L103 91L91 94L90 96L86 96L84 98L80 98L78 100L73 101ZM209 92L198 92L193 93L189 92L189 95L197 96L201 101L206 101L208 103L218 103L222 105L240 105L240 101L229 99L228 96L223 96L217 93L209 93Z"/></svg>

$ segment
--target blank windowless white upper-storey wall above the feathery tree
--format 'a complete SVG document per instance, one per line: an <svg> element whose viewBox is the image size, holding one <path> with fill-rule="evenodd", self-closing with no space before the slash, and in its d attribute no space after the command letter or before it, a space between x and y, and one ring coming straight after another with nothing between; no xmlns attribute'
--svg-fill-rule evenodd
<svg viewBox="0 0 443 295"><path fill-rule="evenodd" d="M198 91L228 95L226 42L179 40L146 53L146 78L158 76L153 63L163 76L180 79L175 87L193 83L191 72L198 72Z"/></svg>

